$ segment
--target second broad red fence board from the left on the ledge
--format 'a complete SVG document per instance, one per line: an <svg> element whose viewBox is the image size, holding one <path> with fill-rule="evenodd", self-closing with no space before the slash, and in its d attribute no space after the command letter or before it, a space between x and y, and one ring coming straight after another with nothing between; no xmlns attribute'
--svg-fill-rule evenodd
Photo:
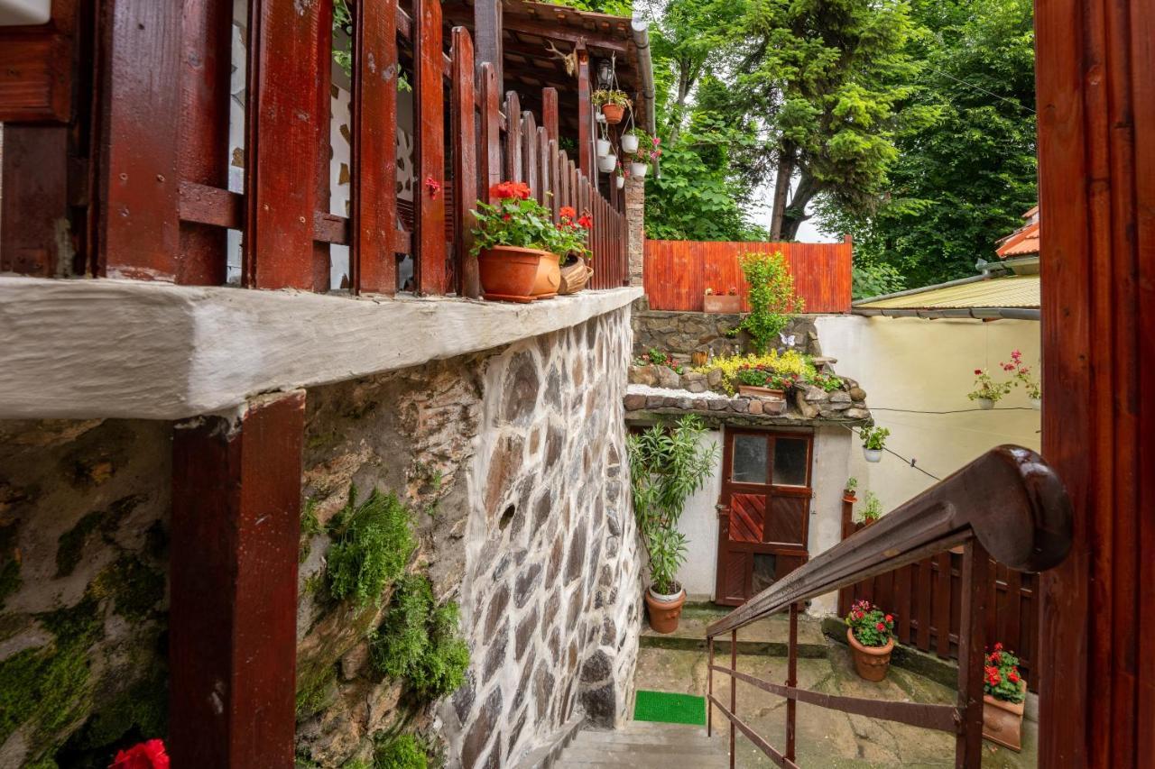
<svg viewBox="0 0 1155 769"><path fill-rule="evenodd" d="M327 80L329 72L318 50L321 6L330 3L252 0L248 8L246 288L314 286L318 121L328 129L328 110L318 113L318 73Z"/></svg>

